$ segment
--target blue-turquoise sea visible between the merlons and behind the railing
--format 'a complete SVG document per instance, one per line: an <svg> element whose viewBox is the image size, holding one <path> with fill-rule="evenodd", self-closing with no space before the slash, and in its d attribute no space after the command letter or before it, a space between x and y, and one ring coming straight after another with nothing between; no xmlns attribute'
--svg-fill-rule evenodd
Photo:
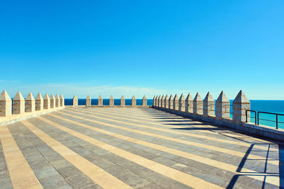
<svg viewBox="0 0 284 189"><path fill-rule="evenodd" d="M98 99L92 99L92 105L98 104ZM104 105L109 105L109 99L103 100ZM147 100L148 105L153 105L153 99ZM65 105L72 105L72 98L65 99ZM85 98L78 99L78 105L86 105ZM114 99L114 105L120 105L120 99ZM131 99L125 99L125 105L131 105ZM136 105L142 105L142 99L136 99ZM251 100L251 110L258 112L278 113L278 128L284 129L284 101L272 101L272 100ZM230 117L233 117L233 100L230 100ZM250 122L255 122L256 116L251 113ZM276 127L276 115L259 113L258 119L259 125L267 125L270 127Z"/></svg>

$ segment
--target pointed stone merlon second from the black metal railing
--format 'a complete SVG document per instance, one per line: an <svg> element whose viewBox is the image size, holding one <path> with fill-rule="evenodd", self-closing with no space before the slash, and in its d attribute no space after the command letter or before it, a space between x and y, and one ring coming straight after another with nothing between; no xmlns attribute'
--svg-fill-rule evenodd
<svg viewBox="0 0 284 189"><path fill-rule="evenodd" d="M230 118L230 101L226 98L224 91L222 91L216 101L216 118L226 119Z"/></svg>

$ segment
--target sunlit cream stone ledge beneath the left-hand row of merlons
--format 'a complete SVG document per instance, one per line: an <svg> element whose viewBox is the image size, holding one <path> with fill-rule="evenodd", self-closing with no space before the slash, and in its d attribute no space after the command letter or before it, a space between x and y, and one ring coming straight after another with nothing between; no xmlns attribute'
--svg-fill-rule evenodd
<svg viewBox="0 0 284 189"><path fill-rule="evenodd" d="M1 116L0 117L0 126L1 125L9 125L12 124L14 122L18 122L21 120L26 120L28 118L34 118L37 117L38 115L43 115L46 113L51 113L57 110L62 110L63 108L65 108L65 106L61 106L58 108L50 108L48 110L44 109L44 110L35 110L34 112L27 112L27 113L23 113L23 114L12 114L9 116Z"/></svg>

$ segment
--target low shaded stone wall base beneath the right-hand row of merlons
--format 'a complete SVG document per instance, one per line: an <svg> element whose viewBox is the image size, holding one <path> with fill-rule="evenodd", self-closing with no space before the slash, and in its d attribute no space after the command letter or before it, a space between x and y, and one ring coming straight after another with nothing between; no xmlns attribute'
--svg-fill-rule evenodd
<svg viewBox="0 0 284 189"><path fill-rule="evenodd" d="M278 140L284 142L284 130L275 127L269 127L266 125L255 125L251 122L242 122L240 125L233 122L231 118L229 119L217 119L215 116L205 116L195 113L185 113L179 110L172 110L168 108L153 107L158 110L163 110L168 113L173 113L175 115L182 115L185 118L193 118L196 120L202 120L205 122L214 123L216 126L229 127L234 130L239 130L245 134L253 134L258 137L266 137L268 139Z"/></svg>

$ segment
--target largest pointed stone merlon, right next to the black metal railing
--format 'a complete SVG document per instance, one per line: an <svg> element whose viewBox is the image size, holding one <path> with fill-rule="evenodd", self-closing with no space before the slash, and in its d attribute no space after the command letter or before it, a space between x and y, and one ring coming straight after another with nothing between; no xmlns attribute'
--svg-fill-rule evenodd
<svg viewBox="0 0 284 189"><path fill-rule="evenodd" d="M239 124L246 122L246 110L251 110L251 102L243 91L239 91L238 95L233 101L233 122ZM248 122L251 114L248 112Z"/></svg>

